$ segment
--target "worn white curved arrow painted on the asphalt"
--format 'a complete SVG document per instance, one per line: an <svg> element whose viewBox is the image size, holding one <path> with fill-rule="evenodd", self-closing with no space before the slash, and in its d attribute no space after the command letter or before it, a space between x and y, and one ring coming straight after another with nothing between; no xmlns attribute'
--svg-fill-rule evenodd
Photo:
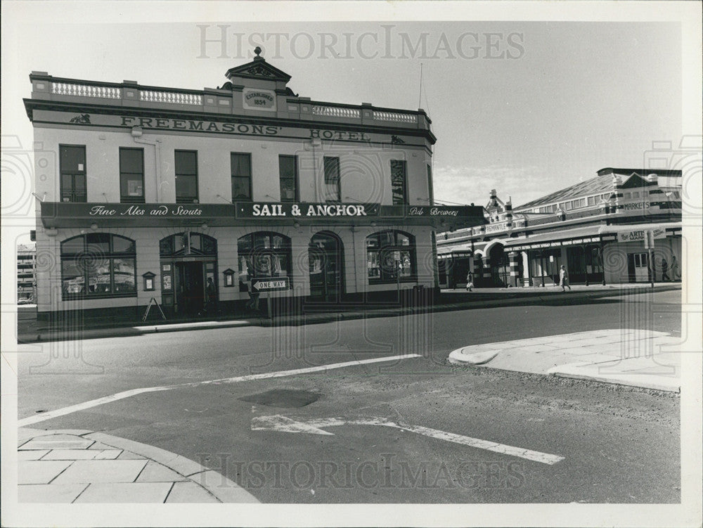
<svg viewBox="0 0 703 528"><path fill-rule="evenodd" d="M507 446L498 444L498 442L489 442L478 438L465 437L462 434L454 434L453 432L445 432L430 427L421 425L401 425L386 418L359 418L356 420L346 420L344 418L318 418L317 420L307 420L305 422L297 422L286 416L276 414L273 416L257 416L252 418L252 431L283 431L283 432L307 432L309 434L334 434L324 429L327 427L338 427L340 425L382 425L384 427L394 427L396 429L422 434L425 437L453 442L464 446L476 447L478 449L486 449L486 451L494 451L494 453L502 453L504 455L519 456L534 462L543 464L555 464L564 460L563 456L550 455L549 453L541 453L540 451L532 451L531 449L522 449L522 447Z"/></svg>

